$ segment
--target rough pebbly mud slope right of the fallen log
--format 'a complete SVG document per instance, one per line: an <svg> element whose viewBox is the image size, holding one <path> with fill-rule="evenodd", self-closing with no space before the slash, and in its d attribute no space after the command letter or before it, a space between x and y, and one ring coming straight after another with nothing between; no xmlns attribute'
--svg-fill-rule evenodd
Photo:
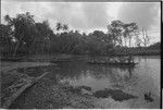
<svg viewBox="0 0 163 110"><path fill-rule="evenodd" d="M82 95L70 85L60 84L48 74L38 84L23 93L10 107L12 109L96 108L96 98Z"/></svg>

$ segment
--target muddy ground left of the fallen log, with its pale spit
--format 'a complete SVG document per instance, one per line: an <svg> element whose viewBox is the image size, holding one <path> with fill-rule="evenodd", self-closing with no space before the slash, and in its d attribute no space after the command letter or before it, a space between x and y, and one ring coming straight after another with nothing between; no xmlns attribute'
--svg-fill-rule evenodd
<svg viewBox="0 0 163 110"><path fill-rule="evenodd" d="M36 66L48 66L55 64L52 63L39 63L39 62L1 62L1 103L3 103L3 100L12 96L12 93L16 93L17 88L10 89L10 87L15 86L16 82L20 82L16 86L20 87L20 85L24 85L26 81L29 81L29 78L34 78L33 76L29 76L28 74L22 74L17 72L17 69L23 68L36 68ZM33 73L35 74L35 73ZM36 76L37 77L37 76ZM22 83L21 83L22 82ZM2 105L1 105L2 106Z"/></svg>

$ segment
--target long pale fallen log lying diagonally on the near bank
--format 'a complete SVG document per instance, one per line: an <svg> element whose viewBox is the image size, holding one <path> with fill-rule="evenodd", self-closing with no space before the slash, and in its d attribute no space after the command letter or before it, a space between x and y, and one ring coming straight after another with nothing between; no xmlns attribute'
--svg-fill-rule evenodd
<svg viewBox="0 0 163 110"><path fill-rule="evenodd" d="M8 109L12 102L23 93L25 91L27 88L29 88L30 86L33 86L34 84L36 84L40 78L42 78L45 75L47 75L48 73L43 73L42 75L36 77L34 81L28 82L27 84L25 84L23 87L21 87L15 94L13 94L11 97L9 97L9 99L4 102L4 105L2 106L3 109Z"/></svg>

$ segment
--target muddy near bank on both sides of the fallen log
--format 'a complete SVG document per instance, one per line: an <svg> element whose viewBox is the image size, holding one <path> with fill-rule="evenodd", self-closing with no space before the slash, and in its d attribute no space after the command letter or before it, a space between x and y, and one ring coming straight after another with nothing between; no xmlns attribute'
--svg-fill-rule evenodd
<svg viewBox="0 0 163 110"><path fill-rule="evenodd" d="M9 86L11 86L13 83L21 78L28 77L27 74L18 73L16 71L17 69L54 65L51 63L42 62L2 62L1 64L1 98L5 94L5 89ZM71 90L68 91L70 86L57 83L57 78L51 77L51 74L53 73L49 73L36 85L24 91L11 105L10 108L93 108L92 103L95 102L89 102L91 101L91 96L80 96L77 93L74 94L71 93Z"/></svg>

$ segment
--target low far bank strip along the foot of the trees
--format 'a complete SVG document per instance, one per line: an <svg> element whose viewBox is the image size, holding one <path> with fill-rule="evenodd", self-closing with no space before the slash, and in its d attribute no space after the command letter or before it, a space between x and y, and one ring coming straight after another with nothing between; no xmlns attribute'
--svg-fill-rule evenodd
<svg viewBox="0 0 163 110"><path fill-rule="evenodd" d="M92 57L128 57L128 56L161 56L161 49L150 48L115 48L110 51L110 54L93 54ZM54 54L27 54L27 56L1 56L1 61L18 61L18 62L57 62L57 61L72 61L72 60L87 60L90 54L67 54L67 53L54 53Z"/></svg>

